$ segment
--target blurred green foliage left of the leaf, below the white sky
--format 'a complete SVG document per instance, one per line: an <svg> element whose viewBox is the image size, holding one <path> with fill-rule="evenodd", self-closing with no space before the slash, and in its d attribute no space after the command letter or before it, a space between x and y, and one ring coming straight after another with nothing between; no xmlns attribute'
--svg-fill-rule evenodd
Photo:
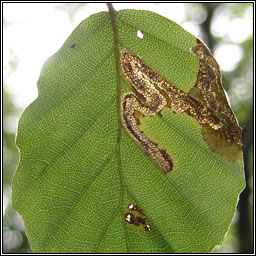
<svg viewBox="0 0 256 256"><path fill-rule="evenodd" d="M3 250L8 253L31 252L24 232L22 219L11 208L10 186L18 164L13 127L21 110L12 102L12 95L3 89Z"/></svg>

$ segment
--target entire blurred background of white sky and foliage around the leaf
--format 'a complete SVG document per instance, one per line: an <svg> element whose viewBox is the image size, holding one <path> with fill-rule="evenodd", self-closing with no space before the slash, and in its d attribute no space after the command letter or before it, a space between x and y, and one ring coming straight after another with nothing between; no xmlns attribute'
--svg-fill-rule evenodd
<svg viewBox="0 0 256 256"><path fill-rule="evenodd" d="M61 47L79 22L91 13L107 11L107 7L96 3L6 3L3 7L3 252L31 253L22 218L11 208L11 181L19 157L15 146L18 119L36 98L36 79L43 62ZM223 86L243 128L247 186L240 195L224 243L213 252L253 253L253 3L133 3L114 4L114 8L146 9L166 16L202 39L216 56L223 71ZM33 15L29 16L26 11ZM21 18L17 18L16 12ZM43 17L47 17L48 23ZM37 24L40 19L43 29ZM57 25L50 30L51 24L55 23ZM15 31L22 35L17 38ZM34 43L37 37L34 31L44 40ZM55 48L47 47L47 42L53 44L53 41ZM39 56L40 61L36 62Z"/></svg>

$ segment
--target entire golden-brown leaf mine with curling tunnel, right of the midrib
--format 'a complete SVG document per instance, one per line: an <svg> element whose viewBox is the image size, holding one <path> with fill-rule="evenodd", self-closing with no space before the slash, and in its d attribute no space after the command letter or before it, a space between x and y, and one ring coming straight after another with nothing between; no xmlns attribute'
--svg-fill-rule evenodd
<svg viewBox="0 0 256 256"><path fill-rule="evenodd" d="M171 157L140 131L139 115L153 116L164 107L186 112L203 127L209 148L230 161L241 155L241 128L227 102L221 85L221 72L208 48L198 40L191 53L199 59L195 86L185 93L147 66L128 50L121 52L121 66L134 94L122 97L122 123L164 173L172 170ZM136 96L135 96L136 95Z"/></svg>

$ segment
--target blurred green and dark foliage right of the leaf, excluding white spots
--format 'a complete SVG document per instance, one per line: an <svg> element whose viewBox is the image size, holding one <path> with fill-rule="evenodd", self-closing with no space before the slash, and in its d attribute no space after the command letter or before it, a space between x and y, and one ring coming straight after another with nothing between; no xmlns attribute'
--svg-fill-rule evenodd
<svg viewBox="0 0 256 256"><path fill-rule="evenodd" d="M227 23L243 22L250 16L252 17L253 4L203 4L203 7L208 15L207 22L202 23L201 28L207 41L211 42L212 49L225 44L234 44L242 52L241 59L235 68L229 72L223 72L223 86L228 92L232 109L243 128L243 152L247 186L240 195L237 214L230 232L227 234L223 245L216 248L215 252L252 253L253 36L251 33L244 40L239 41L236 38L239 42L234 42L231 40L231 28L227 27L226 33L218 37L213 35L211 25L214 24L217 18L222 18L218 14L226 14L224 18L226 18L225 22Z"/></svg>

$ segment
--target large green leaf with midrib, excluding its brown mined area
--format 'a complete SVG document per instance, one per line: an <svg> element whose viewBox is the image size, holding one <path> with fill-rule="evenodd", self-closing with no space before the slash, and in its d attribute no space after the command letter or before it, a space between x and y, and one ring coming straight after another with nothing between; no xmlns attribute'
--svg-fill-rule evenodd
<svg viewBox="0 0 256 256"><path fill-rule="evenodd" d="M196 38L152 12L115 17L119 50L129 49L188 93L199 73L190 51ZM38 98L19 121L12 200L31 248L211 252L245 186L242 154L230 161L214 153L197 120L164 108L161 116L139 118L139 129L171 155L173 170L161 171L121 125L120 98L131 85L123 73L118 82L113 38L108 13L83 21L44 64ZM131 214L139 226L125 221Z"/></svg>

